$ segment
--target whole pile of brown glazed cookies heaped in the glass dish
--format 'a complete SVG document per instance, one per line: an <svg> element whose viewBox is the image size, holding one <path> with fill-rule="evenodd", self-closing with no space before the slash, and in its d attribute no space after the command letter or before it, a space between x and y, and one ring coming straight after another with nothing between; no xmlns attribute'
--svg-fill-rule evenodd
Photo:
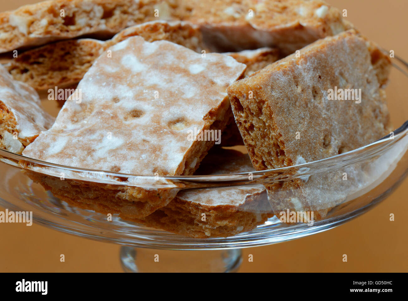
<svg viewBox="0 0 408 301"><path fill-rule="evenodd" d="M0 13L0 45L18 53L0 68L0 147L160 185L22 160L27 175L71 205L185 236L235 235L282 210L322 219L339 201L312 192L337 178L183 189L163 176L317 161L392 129L388 56L319 0L51 0ZM37 91L56 87L80 97L54 120Z"/></svg>

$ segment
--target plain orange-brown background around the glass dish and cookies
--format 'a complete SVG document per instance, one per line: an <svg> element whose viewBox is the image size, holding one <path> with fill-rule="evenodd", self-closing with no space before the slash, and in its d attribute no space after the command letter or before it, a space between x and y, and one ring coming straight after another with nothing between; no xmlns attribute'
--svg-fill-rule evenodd
<svg viewBox="0 0 408 301"><path fill-rule="evenodd" d="M0 11L35 0L0 0ZM330 0L368 38L408 60L406 0ZM408 103L404 108L408 111ZM408 272L408 179L370 212L306 238L244 249L240 272ZM0 210L4 210L0 208ZM389 221L389 214L395 221ZM119 245L49 230L0 224L0 272L121 272ZM157 251L160 254L160 251ZM65 254L65 262L60 262ZM248 262L253 254L253 262ZM342 261L348 255L348 262Z"/></svg>

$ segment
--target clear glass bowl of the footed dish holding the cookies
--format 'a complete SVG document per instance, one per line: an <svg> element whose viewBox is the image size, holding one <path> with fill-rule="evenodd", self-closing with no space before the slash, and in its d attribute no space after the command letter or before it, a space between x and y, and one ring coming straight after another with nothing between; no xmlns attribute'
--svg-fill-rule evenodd
<svg viewBox="0 0 408 301"><path fill-rule="evenodd" d="M405 177L408 168L408 114L401 109L405 103L403 87L407 84L408 65L392 58L393 68L386 89L391 120L398 129L384 138L350 152L311 163L239 174L205 176L165 176L160 181L154 176L132 175L99 170L85 170L42 162L0 150L0 205L9 211L32 211L33 220L62 232L109 241L130 247L169 250L213 250L267 245L297 239L328 230L362 214L386 198ZM241 148L242 149L242 148ZM279 215L269 217L255 229L229 237L193 238L157 230L113 215L74 207L44 190L27 176L19 165L25 161L48 176L58 179L81 179L98 185L132 186L143 183L149 189L220 190L240 189L248 193L257 187L275 187L262 196L272 209L260 213L298 211L315 212L313 223L282 223ZM120 182L118 182L120 180ZM130 181L129 181L130 180ZM165 181L162 181L165 180ZM76 181L76 180L74 180ZM302 181L302 185L290 185ZM259 186L260 185L260 186ZM289 187L289 188L286 188ZM287 205L290 200L290 205ZM289 208L285 208L286 207ZM242 207L240 210L253 210ZM290 211L291 212L291 211ZM288 213L290 213L288 212ZM282 217L282 216L281 216Z"/></svg>

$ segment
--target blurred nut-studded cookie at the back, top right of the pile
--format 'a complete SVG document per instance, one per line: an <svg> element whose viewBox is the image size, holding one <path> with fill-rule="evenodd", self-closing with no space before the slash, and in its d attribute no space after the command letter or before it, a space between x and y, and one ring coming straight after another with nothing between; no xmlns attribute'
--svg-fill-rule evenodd
<svg viewBox="0 0 408 301"><path fill-rule="evenodd" d="M342 11L320 0L194 1L188 20L224 51L278 47L288 55L353 27Z"/></svg>

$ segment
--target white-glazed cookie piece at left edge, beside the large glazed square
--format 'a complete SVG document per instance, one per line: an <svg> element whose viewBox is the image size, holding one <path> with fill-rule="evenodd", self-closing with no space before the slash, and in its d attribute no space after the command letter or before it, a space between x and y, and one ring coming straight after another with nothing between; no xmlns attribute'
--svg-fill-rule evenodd
<svg viewBox="0 0 408 301"><path fill-rule="evenodd" d="M0 148L21 154L53 122L42 109L37 92L13 80L0 65Z"/></svg>

